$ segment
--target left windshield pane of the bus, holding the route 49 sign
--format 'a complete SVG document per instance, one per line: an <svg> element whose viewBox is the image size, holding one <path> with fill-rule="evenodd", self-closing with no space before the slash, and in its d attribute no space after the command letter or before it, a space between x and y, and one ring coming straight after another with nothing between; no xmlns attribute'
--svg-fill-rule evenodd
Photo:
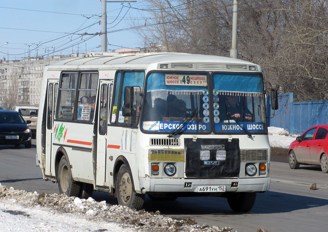
<svg viewBox="0 0 328 232"><path fill-rule="evenodd" d="M209 114L203 115L202 91L207 89L204 73L151 73L147 79L142 128L172 132L191 117L183 132L208 132ZM208 104L208 103L207 103Z"/></svg>

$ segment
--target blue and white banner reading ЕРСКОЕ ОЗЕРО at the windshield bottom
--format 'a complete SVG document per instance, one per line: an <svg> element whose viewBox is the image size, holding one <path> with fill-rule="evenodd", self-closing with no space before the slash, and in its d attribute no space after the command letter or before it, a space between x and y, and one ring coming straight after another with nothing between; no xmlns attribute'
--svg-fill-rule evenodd
<svg viewBox="0 0 328 232"><path fill-rule="evenodd" d="M173 131L174 129L179 129L181 122L143 122L142 128L144 130L149 131ZM196 122L189 122L182 131L187 132L196 132L197 131L197 123ZM198 132L209 131L209 123L198 123Z"/></svg>

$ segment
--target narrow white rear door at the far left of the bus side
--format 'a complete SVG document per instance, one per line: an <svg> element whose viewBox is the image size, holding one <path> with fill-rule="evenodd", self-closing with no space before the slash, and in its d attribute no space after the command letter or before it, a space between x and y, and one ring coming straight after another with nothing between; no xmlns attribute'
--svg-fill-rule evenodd
<svg viewBox="0 0 328 232"><path fill-rule="evenodd" d="M46 126L46 168L45 175L54 176L54 170L51 169L51 137L53 134L53 115L57 100L58 80L49 79L47 85L47 126Z"/></svg>

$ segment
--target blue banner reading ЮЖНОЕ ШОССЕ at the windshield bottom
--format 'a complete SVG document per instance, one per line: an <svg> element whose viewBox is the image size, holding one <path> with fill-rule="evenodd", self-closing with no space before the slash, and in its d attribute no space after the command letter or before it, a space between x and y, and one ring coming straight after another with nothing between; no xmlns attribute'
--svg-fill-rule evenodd
<svg viewBox="0 0 328 232"><path fill-rule="evenodd" d="M240 123L249 132L264 132L266 130L264 123ZM217 123L216 132L243 132L243 129L237 123Z"/></svg>

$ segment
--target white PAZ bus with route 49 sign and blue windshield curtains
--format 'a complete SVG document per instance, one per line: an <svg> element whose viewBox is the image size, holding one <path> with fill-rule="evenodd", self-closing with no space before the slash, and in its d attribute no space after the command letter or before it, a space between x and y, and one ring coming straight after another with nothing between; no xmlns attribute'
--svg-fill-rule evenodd
<svg viewBox="0 0 328 232"><path fill-rule="evenodd" d="M277 109L277 90L271 90ZM269 189L260 66L186 53L77 58L45 68L36 164L59 192L121 205L227 198L249 211Z"/></svg>

